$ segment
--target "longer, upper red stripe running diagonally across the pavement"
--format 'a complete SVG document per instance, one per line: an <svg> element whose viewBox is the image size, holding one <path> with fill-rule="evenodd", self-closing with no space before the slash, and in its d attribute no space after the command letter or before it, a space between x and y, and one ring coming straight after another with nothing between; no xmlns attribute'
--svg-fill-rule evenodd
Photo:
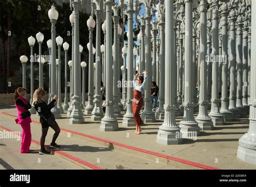
<svg viewBox="0 0 256 187"><path fill-rule="evenodd" d="M5 115L8 115L8 116L17 117L17 116L15 116L13 114L9 114L9 113L6 113L6 112L2 112L2 113L5 114ZM32 120L32 122L36 123L36 124L41 124L38 121L34 121L34 120ZM146 150L146 149L142 149L142 148L138 148L138 147L133 147L133 146L125 145L125 144L122 144L122 143L118 143L118 142L114 142L114 141L110 141L110 140L105 140L105 139L102 139L102 138L97 138L97 137L89 135L89 134L79 133L79 132L71 131L71 130L68 130L68 129L65 129L65 128L60 128L60 130L66 131L66 132L70 132L70 133L73 133L73 134L77 134L77 135L80 135L80 136L85 136L87 138L95 139L95 140L98 140L98 141L102 141L102 142L106 142L106 143L112 143L113 145L124 147L124 148L127 148L127 149L136 150L138 152L143 152L143 153L146 153L146 154L163 157L163 158L168 159L168 160L184 163L184 164L187 164L187 165L190 165L190 166L194 166L194 167L197 167L197 168L201 168L201 169L208 169L208 170L220 169L220 168L215 168L215 167L207 166L207 165L201 164L201 163L192 162L192 161L188 161L188 160L184 160L184 159L179 159L177 157L173 157L173 156L169 156L169 155L164 155L164 154L157 153L157 152L152 152L150 150Z"/></svg>

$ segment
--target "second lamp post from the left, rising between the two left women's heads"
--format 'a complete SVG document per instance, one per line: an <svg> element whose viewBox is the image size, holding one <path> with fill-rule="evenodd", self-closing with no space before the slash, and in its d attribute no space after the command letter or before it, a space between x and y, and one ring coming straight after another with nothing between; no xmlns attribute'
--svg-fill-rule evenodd
<svg viewBox="0 0 256 187"><path fill-rule="evenodd" d="M32 100L33 100L33 91L34 91L34 66L33 63L35 62L35 59L32 58L33 56L33 46L35 45L36 39L34 37L29 37L28 38L29 46L30 46L30 104L32 105ZM32 60L33 59L33 60ZM29 109L29 112L31 114L35 114L36 110L34 107L31 107Z"/></svg>

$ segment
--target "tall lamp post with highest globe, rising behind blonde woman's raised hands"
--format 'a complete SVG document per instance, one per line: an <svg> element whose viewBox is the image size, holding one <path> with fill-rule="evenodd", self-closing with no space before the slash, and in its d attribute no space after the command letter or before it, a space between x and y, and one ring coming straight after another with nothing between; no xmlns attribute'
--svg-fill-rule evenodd
<svg viewBox="0 0 256 187"><path fill-rule="evenodd" d="M59 13L55 9L55 6L51 6L51 9L48 11L48 16L51 20L51 41L56 40L56 30L55 24L58 19ZM56 42L52 42L51 44L51 98L56 95ZM55 105L51 112L55 115L55 118L61 118L60 110L57 105Z"/></svg>

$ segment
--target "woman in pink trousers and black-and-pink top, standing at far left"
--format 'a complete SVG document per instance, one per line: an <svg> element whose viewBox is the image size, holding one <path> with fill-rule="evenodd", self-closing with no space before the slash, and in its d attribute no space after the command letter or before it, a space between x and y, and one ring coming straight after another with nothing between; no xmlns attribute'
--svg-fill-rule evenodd
<svg viewBox="0 0 256 187"><path fill-rule="evenodd" d="M15 106L18 111L18 118L15 119L17 124L22 126L22 142L21 142L21 153L29 153L30 152L30 144L31 144L31 130L30 130L30 123L31 121L31 114L29 109L31 109L31 105L24 98L26 89L19 87L15 90L14 93L14 101Z"/></svg>

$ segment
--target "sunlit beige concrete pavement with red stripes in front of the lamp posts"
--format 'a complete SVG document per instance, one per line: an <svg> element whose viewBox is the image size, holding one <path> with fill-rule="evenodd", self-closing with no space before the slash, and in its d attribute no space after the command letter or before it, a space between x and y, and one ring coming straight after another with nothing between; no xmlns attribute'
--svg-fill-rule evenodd
<svg viewBox="0 0 256 187"><path fill-rule="evenodd" d="M16 109L13 106L6 108L0 109L0 131L3 131L1 126L21 131L21 127L14 121ZM32 138L39 141L39 117L33 114L32 120ZM181 117L176 120L179 124ZM157 143L158 127L163 123L160 120L143 126L140 135L134 134L135 127L124 127L122 118L118 118L119 130L116 132L99 131L100 122L91 121L90 116L85 116L85 124L70 125L66 114L63 114L62 119L57 119L57 122L62 128L57 140L62 149L57 150L54 156L20 154L20 142L0 139L0 158L14 169L256 169L256 166L237 158L238 139L248 130L248 117L234 119L232 123L215 127L213 131L203 131L196 141L184 139L182 145L169 146ZM53 131L50 130L46 136L46 145L51 142L52 134ZM35 143L32 146L34 145ZM31 163L31 157L35 161L39 157L47 157L48 162L43 161L42 166L30 166L28 163ZM24 163L17 162L17 158L22 158Z"/></svg>

